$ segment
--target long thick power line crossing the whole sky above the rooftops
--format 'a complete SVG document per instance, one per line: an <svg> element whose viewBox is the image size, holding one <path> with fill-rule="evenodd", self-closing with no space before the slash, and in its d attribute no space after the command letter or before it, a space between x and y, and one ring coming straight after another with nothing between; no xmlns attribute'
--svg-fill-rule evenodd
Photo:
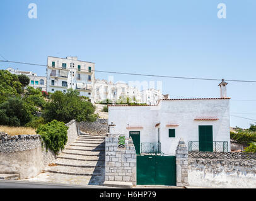
<svg viewBox="0 0 256 201"><path fill-rule="evenodd" d="M0 60L0 62L9 62L9 63L20 63L26 65L37 65L42 67L51 67L48 65L42 65L37 63L25 63L25 62L15 62L9 60ZM66 69L73 69L73 68L66 68ZM207 78L199 78L199 77L175 77L175 76L168 76L168 75L150 75L150 74L142 74L142 73L127 73L127 72L114 72L114 71L104 71L104 70L91 70L94 72L102 72L102 73L115 73L115 74L122 74L122 75L139 75L139 76L147 76L147 77L163 77L163 78L172 78L172 79L190 79L190 80L211 80L211 81L221 81L222 79L207 79ZM256 80L226 80L228 82L252 82L256 83Z"/></svg>

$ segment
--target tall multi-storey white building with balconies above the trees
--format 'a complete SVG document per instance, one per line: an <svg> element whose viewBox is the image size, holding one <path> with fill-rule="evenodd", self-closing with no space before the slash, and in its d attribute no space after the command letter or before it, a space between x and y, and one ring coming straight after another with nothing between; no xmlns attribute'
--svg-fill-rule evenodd
<svg viewBox="0 0 256 201"><path fill-rule="evenodd" d="M47 92L76 89L79 95L89 97L93 102L95 63L78 60L78 57L47 58Z"/></svg>

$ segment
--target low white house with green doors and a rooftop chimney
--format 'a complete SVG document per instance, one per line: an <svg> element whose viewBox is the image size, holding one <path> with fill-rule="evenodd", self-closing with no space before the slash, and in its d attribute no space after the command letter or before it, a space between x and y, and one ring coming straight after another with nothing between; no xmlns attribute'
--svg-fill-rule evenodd
<svg viewBox="0 0 256 201"><path fill-rule="evenodd" d="M110 133L132 137L136 153L175 155L180 138L189 151L230 151L230 98L162 99L156 106L110 105Z"/></svg>

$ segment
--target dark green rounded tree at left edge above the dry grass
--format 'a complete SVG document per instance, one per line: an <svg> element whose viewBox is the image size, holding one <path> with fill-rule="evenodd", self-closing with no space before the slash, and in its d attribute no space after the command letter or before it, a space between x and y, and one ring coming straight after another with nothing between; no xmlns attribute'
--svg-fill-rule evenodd
<svg viewBox="0 0 256 201"><path fill-rule="evenodd" d="M32 120L37 109L21 100L20 97L9 97L0 104L0 124L6 126L24 126Z"/></svg>

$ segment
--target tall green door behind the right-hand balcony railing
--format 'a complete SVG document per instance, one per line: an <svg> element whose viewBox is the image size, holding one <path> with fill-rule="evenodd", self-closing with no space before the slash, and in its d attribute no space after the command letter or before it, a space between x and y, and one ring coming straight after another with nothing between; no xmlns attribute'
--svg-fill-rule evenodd
<svg viewBox="0 0 256 201"><path fill-rule="evenodd" d="M212 126L199 126L199 151L213 151Z"/></svg>

